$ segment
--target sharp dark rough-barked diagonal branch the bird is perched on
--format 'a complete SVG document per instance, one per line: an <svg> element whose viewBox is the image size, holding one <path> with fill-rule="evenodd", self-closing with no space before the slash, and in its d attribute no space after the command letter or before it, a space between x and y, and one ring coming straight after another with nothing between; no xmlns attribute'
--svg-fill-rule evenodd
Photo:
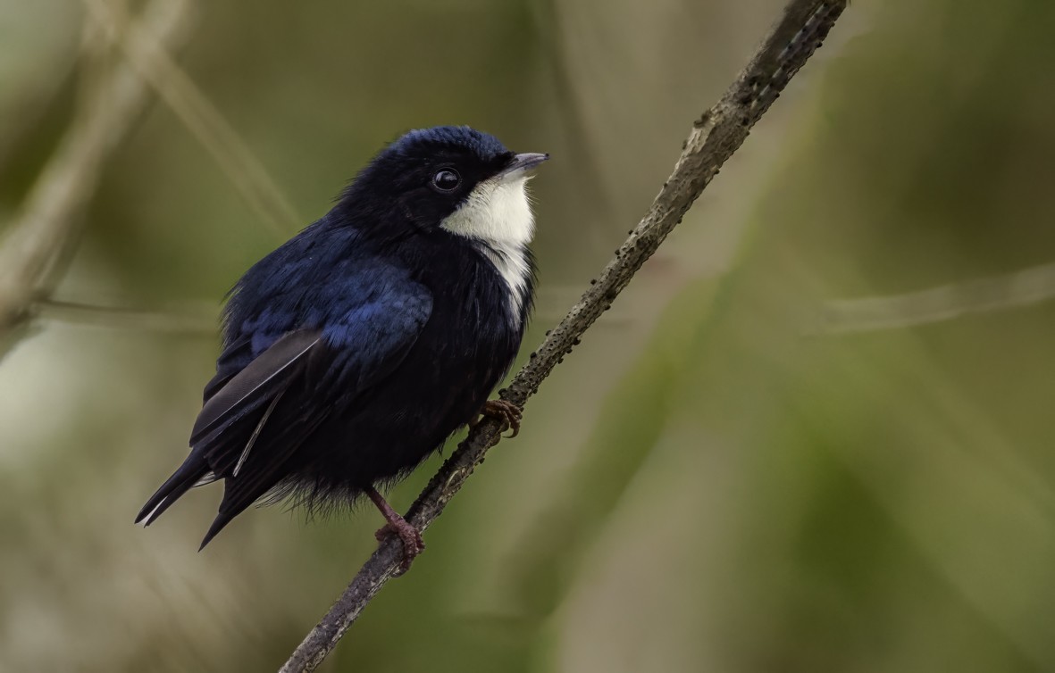
<svg viewBox="0 0 1055 673"><path fill-rule="evenodd" d="M788 2L751 62L722 99L693 124L674 172L648 213L579 303L548 333L509 388L500 391L503 400L522 406L572 347L578 345L587 328L611 306L641 264L655 252L725 161L740 148L754 122L821 44L845 7L846 0ZM499 432L499 422L493 419L476 425L433 477L406 519L420 531L426 530L483 460L487 449L498 443ZM381 543L322 621L296 648L281 673L313 671L363 608L397 575L402 555L402 545L395 538Z"/></svg>

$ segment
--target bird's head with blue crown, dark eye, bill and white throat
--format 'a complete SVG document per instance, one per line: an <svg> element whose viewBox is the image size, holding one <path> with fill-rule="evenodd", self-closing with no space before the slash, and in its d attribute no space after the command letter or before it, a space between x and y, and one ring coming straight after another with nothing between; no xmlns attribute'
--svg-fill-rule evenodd
<svg viewBox="0 0 1055 673"><path fill-rule="evenodd" d="M501 246L526 245L534 217L526 182L548 154L516 154L468 127L411 131L381 151L341 199L376 226Z"/></svg>

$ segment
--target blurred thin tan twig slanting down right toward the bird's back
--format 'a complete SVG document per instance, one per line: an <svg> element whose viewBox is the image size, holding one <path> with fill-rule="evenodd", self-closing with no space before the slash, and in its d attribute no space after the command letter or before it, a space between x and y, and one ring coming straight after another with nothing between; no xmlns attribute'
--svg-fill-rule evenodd
<svg viewBox="0 0 1055 673"><path fill-rule="evenodd" d="M111 0L83 0L92 18L107 28L129 62L172 109L272 232L285 238L301 218L264 165L224 115L179 68L165 45Z"/></svg>

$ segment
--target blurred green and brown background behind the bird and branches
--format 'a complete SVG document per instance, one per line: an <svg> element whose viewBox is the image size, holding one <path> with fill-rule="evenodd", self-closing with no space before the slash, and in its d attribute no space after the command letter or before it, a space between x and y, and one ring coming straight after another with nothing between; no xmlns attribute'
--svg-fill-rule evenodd
<svg viewBox="0 0 1055 673"><path fill-rule="evenodd" d="M55 296L208 326L386 141L468 123L554 156L526 352L782 4L198 0L177 61L277 191L152 98ZM91 83L85 6L0 1L5 224ZM1055 261L1052 35L1046 0L853 2L322 670L1055 671L1051 274L1013 301ZM831 303L888 295L884 329ZM277 669L379 517L252 509L198 554L214 486L133 526L217 340L96 322L0 362L0 670Z"/></svg>

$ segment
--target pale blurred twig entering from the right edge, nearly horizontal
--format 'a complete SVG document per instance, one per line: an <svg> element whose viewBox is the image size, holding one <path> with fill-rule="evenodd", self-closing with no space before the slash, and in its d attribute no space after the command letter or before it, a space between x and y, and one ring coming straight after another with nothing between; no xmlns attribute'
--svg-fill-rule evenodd
<svg viewBox="0 0 1055 673"><path fill-rule="evenodd" d="M833 300L824 304L806 333L848 334L914 327L1052 299L1055 299L1055 263L905 294Z"/></svg>

